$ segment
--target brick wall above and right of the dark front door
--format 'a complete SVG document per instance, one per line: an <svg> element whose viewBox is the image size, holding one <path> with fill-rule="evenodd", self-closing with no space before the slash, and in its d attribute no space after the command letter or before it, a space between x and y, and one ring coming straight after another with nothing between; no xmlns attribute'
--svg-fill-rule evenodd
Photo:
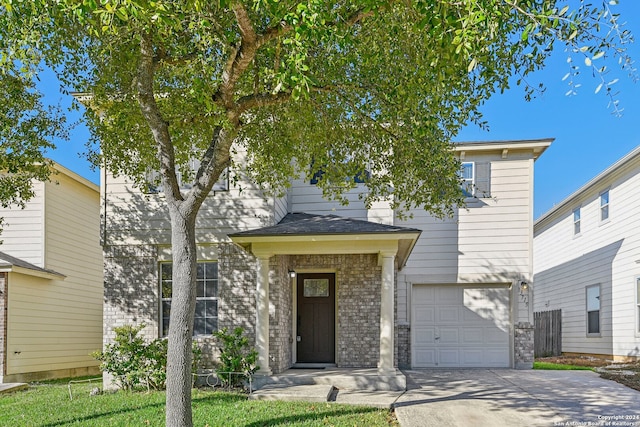
<svg viewBox="0 0 640 427"><path fill-rule="evenodd" d="M290 260L296 270L336 272L336 365L376 367L380 356L382 280L377 255L296 255Z"/></svg>

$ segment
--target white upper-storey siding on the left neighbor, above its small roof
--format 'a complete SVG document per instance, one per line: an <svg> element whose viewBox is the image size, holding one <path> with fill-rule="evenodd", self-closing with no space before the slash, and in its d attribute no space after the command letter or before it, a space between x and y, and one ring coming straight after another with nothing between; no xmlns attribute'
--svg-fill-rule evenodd
<svg viewBox="0 0 640 427"><path fill-rule="evenodd" d="M34 182L35 196L24 209L0 207L5 223L0 234L0 251L38 267L44 267L44 184Z"/></svg>

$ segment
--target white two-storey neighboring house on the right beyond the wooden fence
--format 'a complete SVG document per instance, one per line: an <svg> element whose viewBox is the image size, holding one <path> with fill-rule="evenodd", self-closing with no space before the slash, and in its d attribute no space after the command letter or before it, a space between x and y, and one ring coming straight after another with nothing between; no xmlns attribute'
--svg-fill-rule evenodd
<svg viewBox="0 0 640 427"><path fill-rule="evenodd" d="M562 310L562 352L640 358L640 147L535 223L538 311Z"/></svg>

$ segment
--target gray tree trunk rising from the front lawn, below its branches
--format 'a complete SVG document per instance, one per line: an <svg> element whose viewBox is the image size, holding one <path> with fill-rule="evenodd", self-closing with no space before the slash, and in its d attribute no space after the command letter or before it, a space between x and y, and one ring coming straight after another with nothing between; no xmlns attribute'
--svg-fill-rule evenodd
<svg viewBox="0 0 640 427"><path fill-rule="evenodd" d="M193 317L196 305L195 217L169 203L173 289L167 352L166 425L191 427L191 361Z"/></svg>

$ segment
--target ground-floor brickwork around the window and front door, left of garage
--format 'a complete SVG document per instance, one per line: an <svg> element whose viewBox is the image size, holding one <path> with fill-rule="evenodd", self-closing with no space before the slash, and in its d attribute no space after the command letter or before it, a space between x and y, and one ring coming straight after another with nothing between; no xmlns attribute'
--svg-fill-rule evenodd
<svg viewBox="0 0 640 427"><path fill-rule="evenodd" d="M153 245L105 247L104 343L114 339L113 328L144 322L147 339L159 336L160 289L158 253ZM291 366L293 343L293 287L289 269L335 271L337 286L338 367L376 367L380 342L381 267L377 255L296 255L270 260L270 368L279 373ZM257 260L239 246L218 246L218 326L241 326L255 346L255 287ZM405 340L396 329L396 342ZM406 335L406 334L405 334ZM408 341L406 339L405 341ZM199 337L205 367L219 350L213 339ZM406 352L395 349L396 361Z"/></svg>

